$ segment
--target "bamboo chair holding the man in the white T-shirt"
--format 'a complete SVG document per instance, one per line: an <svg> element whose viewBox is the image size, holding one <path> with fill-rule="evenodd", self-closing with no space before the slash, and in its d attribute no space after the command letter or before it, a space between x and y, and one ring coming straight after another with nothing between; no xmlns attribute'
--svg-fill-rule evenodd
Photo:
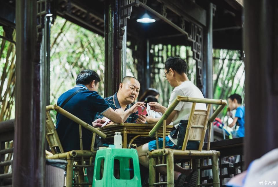
<svg viewBox="0 0 278 187"><path fill-rule="evenodd" d="M219 187L219 168L218 168L218 157L220 152L212 151L210 149L210 139L211 139L211 128L212 122L215 117L222 111L222 109L227 105L226 100L215 100L215 99L200 99L200 98L191 98L191 97L182 97L178 96L173 104L165 111L164 115L149 132L149 136L155 136L156 132L160 129L163 123L163 128L166 126L166 119L175 109L179 102L192 102L192 108L186 128L186 134L184 137L184 142L181 150L177 149L165 149L165 135L163 136L163 148L156 149L152 152L147 152L147 157L149 160L149 186L153 187L160 184L167 184L168 187L174 187L174 159L200 159L208 158L212 159L212 173L213 173L213 183L202 184L198 186L213 186ZM205 103L207 105L207 110L195 110L196 103ZM212 104L220 105L216 111L209 118L209 113ZM207 150L202 150L204 144L204 138L207 130L207 125L209 123L209 138ZM164 130L165 131L165 130ZM191 141L200 141L198 150L186 150L187 142ZM156 164L156 159L160 157L166 157L166 164ZM164 160L164 159L163 159ZM166 166L167 167L167 182L156 182L156 167ZM196 169L196 168L195 168ZM200 172L199 172L200 173ZM198 177L200 178L200 176Z"/></svg>

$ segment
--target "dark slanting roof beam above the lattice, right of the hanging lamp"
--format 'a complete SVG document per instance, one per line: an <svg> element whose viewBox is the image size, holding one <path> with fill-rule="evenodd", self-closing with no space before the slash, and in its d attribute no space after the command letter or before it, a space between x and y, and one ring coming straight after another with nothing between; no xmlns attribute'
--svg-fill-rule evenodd
<svg viewBox="0 0 278 187"><path fill-rule="evenodd" d="M206 10L191 0L157 0L185 20L206 26Z"/></svg>

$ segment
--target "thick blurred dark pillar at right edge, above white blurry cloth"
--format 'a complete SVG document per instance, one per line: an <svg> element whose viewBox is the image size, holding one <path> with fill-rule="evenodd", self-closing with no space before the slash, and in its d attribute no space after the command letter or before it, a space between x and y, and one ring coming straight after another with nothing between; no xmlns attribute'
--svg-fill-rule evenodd
<svg viewBox="0 0 278 187"><path fill-rule="evenodd" d="M278 147L278 2L244 0L245 167Z"/></svg>

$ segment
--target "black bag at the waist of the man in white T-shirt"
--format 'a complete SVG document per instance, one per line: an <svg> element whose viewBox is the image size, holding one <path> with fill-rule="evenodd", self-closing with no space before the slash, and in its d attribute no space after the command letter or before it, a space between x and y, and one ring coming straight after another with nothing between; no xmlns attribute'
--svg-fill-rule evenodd
<svg viewBox="0 0 278 187"><path fill-rule="evenodd" d="M170 136L173 139L178 138L178 149L182 149L182 144L184 141L184 136L186 133L188 120L180 120L180 123L178 124L177 128L175 126L172 128L170 132ZM189 140L186 145L186 150L198 150L200 141L192 141Z"/></svg>

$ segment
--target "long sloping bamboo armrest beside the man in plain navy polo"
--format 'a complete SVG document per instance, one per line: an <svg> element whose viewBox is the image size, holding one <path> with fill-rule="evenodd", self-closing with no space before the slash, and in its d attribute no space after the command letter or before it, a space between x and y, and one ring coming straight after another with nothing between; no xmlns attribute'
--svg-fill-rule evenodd
<svg viewBox="0 0 278 187"><path fill-rule="evenodd" d="M61 113L65 117L74 121L75 123L80 124L85 129L88 129L89 131L96 133L98 136L100 136L102 138L106 138L106 134L97 130L96 128L92 127L91 125L87 124L85 121L82 121L75 115L73 115L73 114L69 113L68 111L62 109L61 107L57 106L57 104L52 104L52 105L46 106L46 111L50 111L50 110L56 110L58 113Z"/></svg>

